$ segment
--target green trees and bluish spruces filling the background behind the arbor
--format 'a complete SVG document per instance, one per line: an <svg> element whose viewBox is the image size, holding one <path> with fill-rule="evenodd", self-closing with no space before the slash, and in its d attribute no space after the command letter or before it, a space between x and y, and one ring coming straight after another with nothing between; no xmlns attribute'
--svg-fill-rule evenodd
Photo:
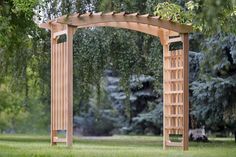
<svg viewBox="0 0 236 157"><path fill-rule="evenodd" d="M235 131L235 0L3 0L0 2L0 131L47 132L50 117L50 33L36 23L87 11L150 13L192 24L190 127ZM106 70L125 99L106 90ZM155 81L132 86L131 76ZM138 77L137 77L138 78ZM143 91L156 95L139 95ZM74 36L74 121L84 134L160 134L162 46L159 39L114 28L78 30ZM118 103L118 104L117 104ZM104 121L107 123L104 124ZM25 128L28 128L26 130ZM94 132L94 130L97 130Z"/></svg>

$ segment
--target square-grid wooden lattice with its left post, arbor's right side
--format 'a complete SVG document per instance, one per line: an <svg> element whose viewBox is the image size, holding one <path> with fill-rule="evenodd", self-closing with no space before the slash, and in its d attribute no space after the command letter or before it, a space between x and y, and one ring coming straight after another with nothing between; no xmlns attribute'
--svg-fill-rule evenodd
<svg viewBox="0 0 236 157"><path fill-rule="evenodd" d="M183 50L164 52L164 134L166 146L183 146L183 140L173 142L170 135L184 132L184 55Z"/></svg>

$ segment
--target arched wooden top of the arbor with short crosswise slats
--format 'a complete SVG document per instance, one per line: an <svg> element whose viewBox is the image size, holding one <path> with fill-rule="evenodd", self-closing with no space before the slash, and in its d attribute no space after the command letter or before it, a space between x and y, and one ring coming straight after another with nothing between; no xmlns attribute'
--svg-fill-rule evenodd
<svg viewBox="0 0 236 157"><path fill-rule="evenodd" d="M158 16L150 16L149 14L139 15L138 13L127 14L125 12L115 13L85 13L74 14L70 16L62 16L55 20L48 21L40 25L42 28L51 29L51 25L70 25L78 28L110 26L118 28L127 28L131 30L141 31L150 34L152 31L142 31L142 29L150 29L155 27L165 29L176 33L189 33L192 27L172 22L171 20L162 20ZM144 28L144 25L146 27ZM142 29L138 29L142 27ZM155 35L155 33L152 33ZM155 35L156 36L156 35Z"/></svg>

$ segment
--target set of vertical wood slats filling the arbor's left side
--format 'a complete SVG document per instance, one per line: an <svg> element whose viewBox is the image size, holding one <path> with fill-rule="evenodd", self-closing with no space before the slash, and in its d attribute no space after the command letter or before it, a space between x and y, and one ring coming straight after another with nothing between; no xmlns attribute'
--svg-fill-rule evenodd
<svg viewBox="0 0 236 157"><path fill-rule="evenodd" d="M67 104L66 103L66 86L68 85L66 64L66 46L67 42L55 43L52 47L51 54L51 123L52 130L67 130Z"/></svg>

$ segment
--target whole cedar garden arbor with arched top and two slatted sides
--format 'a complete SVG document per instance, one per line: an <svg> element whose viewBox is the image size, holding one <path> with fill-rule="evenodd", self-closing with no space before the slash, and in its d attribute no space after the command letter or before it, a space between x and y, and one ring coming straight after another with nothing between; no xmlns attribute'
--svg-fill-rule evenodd
<svg viewBox="0 0 236 157"><path fill-rule="evenodd" d="M157 16L138 13L86 13L62 16L40 25L51 30L51 143L73 138L73 34L77 28L118 27L151 34L163 45L163 148L182 147L188 150L188 33L191 26L161 20ZM60 35L66 35L58 43ZM170 50L170 44L182 42L182 48ZM57 131L65 130L66 138ZM180 135L181 141L171 141Z"/></svg>

